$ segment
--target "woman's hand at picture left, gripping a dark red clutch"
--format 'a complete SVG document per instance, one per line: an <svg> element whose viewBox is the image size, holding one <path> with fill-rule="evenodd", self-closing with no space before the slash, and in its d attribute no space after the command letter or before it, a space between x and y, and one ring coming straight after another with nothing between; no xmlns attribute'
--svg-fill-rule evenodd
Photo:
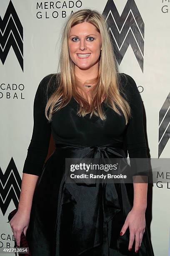
<svg viewBox="0 0 170 256"><path fill-rule="evenodd" d="M20 246L21 233L24 231L24 235L26 235L29 222L30 212L23 212L21 210L18 210L10 220L10 226L12 228L15 241L17 242L17 246Z"/></svg>

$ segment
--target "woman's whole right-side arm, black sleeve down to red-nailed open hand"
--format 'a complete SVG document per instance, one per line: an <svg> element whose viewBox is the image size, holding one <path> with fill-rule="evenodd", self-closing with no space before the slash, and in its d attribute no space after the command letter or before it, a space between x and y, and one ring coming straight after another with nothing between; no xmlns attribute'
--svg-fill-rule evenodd
<svg viewBox="0 0 170 256"><path fill-rule="evenodd" d="M148 192L148 156L143 125L143 104L138 87L132 77L125 74L128 82L125 90L132 110L125 133L125 145L130 158L130 176L133 178L134 198L133 207L127 215L122 227L124 235L130 230L128 249L131 250L135 241L135 252L138 252L145 232L145 210Z"/></svg>

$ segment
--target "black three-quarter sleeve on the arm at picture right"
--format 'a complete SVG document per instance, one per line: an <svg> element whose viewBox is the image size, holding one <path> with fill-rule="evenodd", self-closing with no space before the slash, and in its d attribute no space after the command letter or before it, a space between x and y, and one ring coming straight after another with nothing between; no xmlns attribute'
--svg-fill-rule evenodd
<svg viewBox="0 0 170 256"><path fill-rule="evenodd" d="M132 77L125 74L127 92L131 117L128 121L125 133L125 145L130 158L131 175L148 176L148 156L143 125L143 103L138 87Z"/></svg>

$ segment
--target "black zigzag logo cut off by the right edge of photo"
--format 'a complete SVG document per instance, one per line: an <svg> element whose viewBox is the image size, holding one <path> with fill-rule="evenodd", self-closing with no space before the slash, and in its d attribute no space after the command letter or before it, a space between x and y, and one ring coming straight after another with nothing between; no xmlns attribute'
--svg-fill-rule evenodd
<svg viewBox="0 0 170 256"><path fill-rule="evenodd" d="M170 93L159 112L159 146L158 158L170 138Z"/></svg>

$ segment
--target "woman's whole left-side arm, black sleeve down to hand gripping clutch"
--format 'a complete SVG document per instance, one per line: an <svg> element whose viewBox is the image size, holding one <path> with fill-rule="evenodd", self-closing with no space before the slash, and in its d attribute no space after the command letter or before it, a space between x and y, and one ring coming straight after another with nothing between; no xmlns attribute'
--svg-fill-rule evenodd
<svg viewBox="0 0 170 256"><path fill-rule="evenodd" d="M38 177L42 173L50 142L51 126L45 117L45 106L47 104L46 88L50 77L51 75L48 75L42 79L35 94L33 108L34 127L23 166L18 211L10 220L10 225L18 246L20 246L21 233L24 231L26 235L28 229L35 187Z"/></svg>

